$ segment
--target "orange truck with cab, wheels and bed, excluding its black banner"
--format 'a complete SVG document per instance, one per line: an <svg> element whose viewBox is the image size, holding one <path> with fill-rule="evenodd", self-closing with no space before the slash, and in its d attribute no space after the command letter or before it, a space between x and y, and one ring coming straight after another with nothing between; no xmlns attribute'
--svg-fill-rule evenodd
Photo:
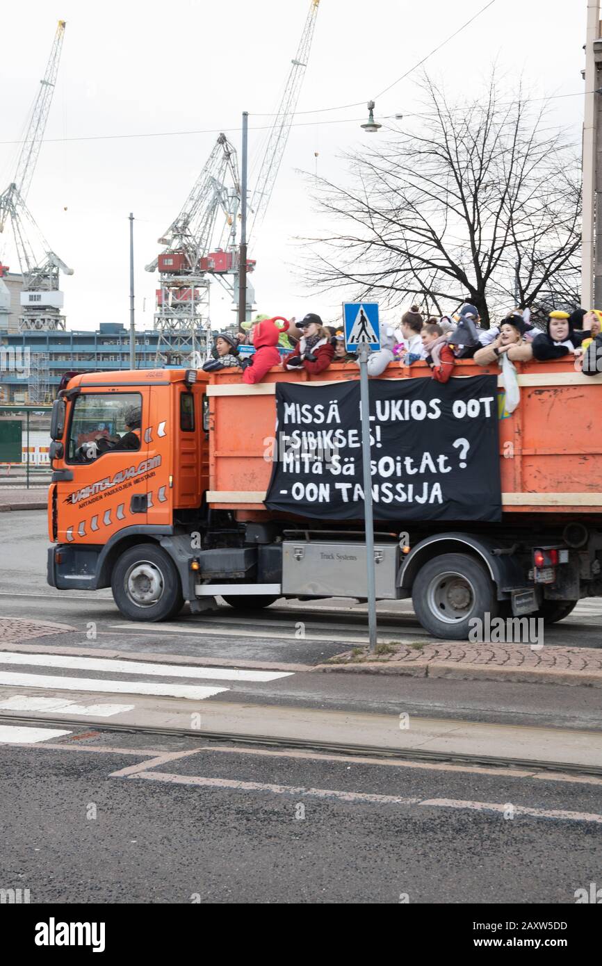
<svg viewBox="0 0 602 966"><path fill-rule="evenodd" d="M519 406L508 416L499 400L501 519L376 524L377 597L412 597L440 638L466 639L487 614L557 621L602 595L602 375L562 359L516 368ZM500 380L472 360L453 380L483 374ZM429 376L424 363L394 363L382 378ZM281 597L365 599L359 513L316 520L265 505L276 384L343 380L358 380L357 366L316 377L273 368L257 385L238 370L74 376L52 412L49 584L110 586L125 617L147 621L186 601L214 608L216 596L246 610ZM133 448L120 448L125 436Z"/></svg>

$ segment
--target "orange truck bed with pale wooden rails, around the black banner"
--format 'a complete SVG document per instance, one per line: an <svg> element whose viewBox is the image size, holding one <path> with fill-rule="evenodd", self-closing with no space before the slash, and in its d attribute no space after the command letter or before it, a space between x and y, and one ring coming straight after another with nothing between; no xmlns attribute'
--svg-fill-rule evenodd
<svg viewBox="0 0 602 966"><path fill-rule="evenodd" d="M602 374L584 376L572 361L517 363L521 401L503 411L498 366L459 361L453 379L499 376L502 509L506 514L602 516ZM333 363L321 376L274 367L263 383L246 385L230 370L207 375L210 403L212 507L260 519L272 471L266 451L274 435L275 384L358 380L355 363ZM392 363L382 379L431 378L428 366ZM445 386L441 387L442 394Z"/></svg>

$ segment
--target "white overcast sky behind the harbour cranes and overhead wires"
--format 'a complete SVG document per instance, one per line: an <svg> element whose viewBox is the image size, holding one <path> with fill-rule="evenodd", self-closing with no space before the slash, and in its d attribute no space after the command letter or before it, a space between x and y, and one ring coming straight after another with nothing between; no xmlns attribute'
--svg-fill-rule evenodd
<svg viewBox="0 0 602 966"><path fill-rule="evenodd" d="M486 0L321 0L299 111L365 103L475 14ZM239 147L274 110L301 37L309 0L22 0L2 11L0 190L11 181L25 116L37 94L56 20L67 20L57 88L45 137L224 130ZM587 0L496 0L426 64L450 93L471 97L498 62L508 84L522 74L533 97L581 92ZM376 115L410 113L412 77L377 99ZM557 99L552 121L581 137L583 98ZM298 117L270 210L249 256L257 310L319 312L338 321L340 293L312 298L294 277L296 236L319 233L297 173L345 179L340 155L368 139L365 107ZM323 123L323 122L328 123ZM340 123L334 123L340 122ZM264 131L250 130L252 164ZM51 247L75 273L63 278L70 328L129 325L129 223L136 218L136 326L153 326L156 276L144 271L157 238L179 212L215 144L216 133L55 141L43 145L28 205ZM14 251L4 249L12 270ZM144 310L143 310L144 306ZM214 285L212 322L233 319Z"/></svg>

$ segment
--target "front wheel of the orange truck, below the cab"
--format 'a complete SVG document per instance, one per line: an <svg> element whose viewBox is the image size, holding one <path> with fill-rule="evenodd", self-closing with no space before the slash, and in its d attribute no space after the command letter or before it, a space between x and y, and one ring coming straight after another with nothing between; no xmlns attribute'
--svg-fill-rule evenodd
<svg viewBox="0 0 602 966"><path fill-rule="evenodd" d="M184 606L176 565L157 544L139 544L125 551L113 569L111 590L128 620L169 620Z"/></svg>

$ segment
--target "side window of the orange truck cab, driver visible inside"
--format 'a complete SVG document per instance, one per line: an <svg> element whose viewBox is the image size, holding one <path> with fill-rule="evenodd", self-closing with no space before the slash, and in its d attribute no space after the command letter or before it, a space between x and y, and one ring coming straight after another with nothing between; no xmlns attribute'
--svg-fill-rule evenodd
<svg viewBox="0 0 602 966"><path fill-rule="evenodd" d="M142 397L138 392L86 392L77 396L69 432L68 460L89 462L109 449L140 448ZM128 420L136 421L132 427ZM95 447L86 444L96 442Z"/></svg>

